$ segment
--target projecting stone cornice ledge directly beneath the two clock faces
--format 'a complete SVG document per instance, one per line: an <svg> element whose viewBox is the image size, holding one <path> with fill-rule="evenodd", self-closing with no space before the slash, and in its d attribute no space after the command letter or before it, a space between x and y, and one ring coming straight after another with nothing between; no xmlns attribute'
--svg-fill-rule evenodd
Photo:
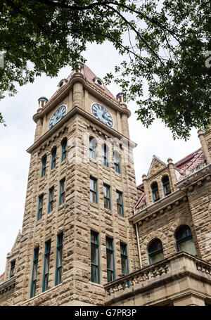
<svg viewBox="0 0 211 320"><path fill-rule="evenodd" d="M46 141L46 139L48 139L52 134L54 134L54 132L56 132L56 130L58 130L60 127L62 127L62 125L65 124L65 122L68 122L68 120L70 120L70 118L76 114L82 115L84 118L86 118L90 122L97 124L99 127L101 127L102 129L105 129L106 132L115 136L116 138L124 139L125 141L127 141L127 143L129 143L130 147L135 148L137 146L136 143L127 139L126 136L123 136L122 134L117 132L115 129L110 128L106 124L101 122L100 120L97 120L95 117L93 117L93 115L91 115L91 114L87 113L86 111L82 110L81 108L75 106L75 108L70 110L65 115L65 117L63 117L59 122L57 122L57 124L55 124L55 126L53 128L51 128L43 136L41 136L41 138L39 138L36 142L34 142L34 144L32 144L32 146L30 146L30 148L27 148L27 153L32 153L32 151L34 151L34 149L38 148L41 145L41 143Z"/></svg>

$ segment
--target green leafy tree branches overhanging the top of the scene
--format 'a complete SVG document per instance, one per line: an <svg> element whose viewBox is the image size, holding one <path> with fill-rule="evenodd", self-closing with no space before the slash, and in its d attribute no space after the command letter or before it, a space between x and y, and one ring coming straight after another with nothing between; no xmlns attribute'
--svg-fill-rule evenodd
<svg viewBox="0 0 211 320"><path fill-rule="evenodd" d="M157 117L174 139L187 139L192 127L210 124L210 6L210 0L1 1L0 98L41 72L55 77L65 65L76 68L88 43L109 40L125 59L106 82L114 80L136 101L143 124Z"/></svg>

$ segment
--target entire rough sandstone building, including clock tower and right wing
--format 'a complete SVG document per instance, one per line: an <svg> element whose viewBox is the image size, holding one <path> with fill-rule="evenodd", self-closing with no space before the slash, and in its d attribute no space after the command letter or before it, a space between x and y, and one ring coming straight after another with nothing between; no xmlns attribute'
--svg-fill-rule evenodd
<svg viewBox="0 0 211 320"><path fill-rule="evenodd" d="M136 186L129 115L82 63L39 98L0 305L210 305L211 130Z"/></svg>

